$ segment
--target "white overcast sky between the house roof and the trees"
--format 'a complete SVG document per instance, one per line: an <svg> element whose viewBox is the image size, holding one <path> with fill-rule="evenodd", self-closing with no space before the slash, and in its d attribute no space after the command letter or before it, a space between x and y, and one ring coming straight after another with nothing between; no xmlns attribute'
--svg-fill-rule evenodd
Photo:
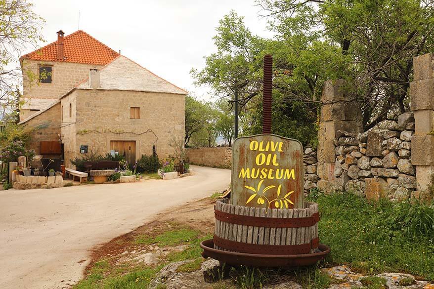
<svg viewBox="0 0 434 289"><path fill-rule="evenodd" d="M189 71L204 66L215 51L212 37L223 15L235 10L246 26L267 37L266 20L254 0L34 0L34 11L46 21L46 43L80 29L158 76L204 99L209 88L197 88ZM29 49L33 50L33 49ZM29 52L25 51L25 52Z"/></svg>

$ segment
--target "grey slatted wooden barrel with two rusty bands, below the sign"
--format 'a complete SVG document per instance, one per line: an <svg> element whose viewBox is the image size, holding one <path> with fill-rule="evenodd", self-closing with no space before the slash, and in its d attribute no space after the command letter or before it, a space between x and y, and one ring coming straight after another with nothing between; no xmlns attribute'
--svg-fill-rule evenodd
<svg viewBox="0 0 434 289"><path fill-rule="evenodd" d="M307 254L317 251L318 204L266 209L217 201L214 248L252 254Z"/></svg>

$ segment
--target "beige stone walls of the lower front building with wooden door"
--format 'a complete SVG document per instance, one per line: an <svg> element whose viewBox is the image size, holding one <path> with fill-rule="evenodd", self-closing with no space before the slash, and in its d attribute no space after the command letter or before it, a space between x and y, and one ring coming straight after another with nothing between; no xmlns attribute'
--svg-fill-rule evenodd
<svg viewBox="0 0 434 289"><path fill-rule="evenodd" d="M76 89L61 99L65 166L80 155L110 152L111 141L135 141L135 158L151 155L156 146L160 158L173 153L170 143L183 140L185 96L171 93ZM71 104L71 117L69 107ZM140 119L130 119L130 107L140 107Z"/></svg>

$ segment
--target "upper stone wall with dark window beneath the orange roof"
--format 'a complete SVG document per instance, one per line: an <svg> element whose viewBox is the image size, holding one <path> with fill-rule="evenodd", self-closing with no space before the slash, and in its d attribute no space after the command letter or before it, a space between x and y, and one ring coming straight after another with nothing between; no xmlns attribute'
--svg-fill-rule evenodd
<svg viewBox="0 0 434 289"><path fill-rule="evenodd" d="M39 67L41 65L52 66L52 83L38 82ZM86 79L90 69L101 68L101 65L23 59L23 99L30 104L32 104L32 101L28 99L53 99L55 101ZM36 113L31 109L41 108L39 106L24 105L20 110L20 121Z"/></svg>

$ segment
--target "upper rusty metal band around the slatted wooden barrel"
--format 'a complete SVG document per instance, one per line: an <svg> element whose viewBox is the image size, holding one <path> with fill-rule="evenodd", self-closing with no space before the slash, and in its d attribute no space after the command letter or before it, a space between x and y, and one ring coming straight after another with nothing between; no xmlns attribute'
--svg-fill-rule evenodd
<svg viewBox="0 0 434 289"><path fill-rule="evenodd" d="M266 228L310 227L315 225L319 221L318 212L312 214L312 216L310 217L302 217L302 218L266 218L266 217L236 215L227 212L222 212L215 208L214 215L217 220L222 222L244 225L244 226L256 226L256 227L266 227Z"/></svg>

